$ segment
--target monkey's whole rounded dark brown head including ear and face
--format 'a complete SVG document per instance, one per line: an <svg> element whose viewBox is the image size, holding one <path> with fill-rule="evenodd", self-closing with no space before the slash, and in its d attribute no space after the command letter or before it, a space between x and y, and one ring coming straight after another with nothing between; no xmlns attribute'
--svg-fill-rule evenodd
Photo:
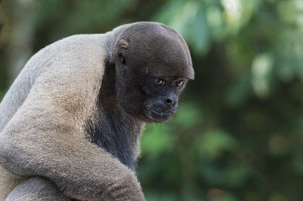
<svg viewBox="0 0 303 201"><path fill-rule="evenodd" d="M135 23L120 34L114 52L122 108L144 122L170 120L187 81L194 79L181 35L163 24Z"/></svg>

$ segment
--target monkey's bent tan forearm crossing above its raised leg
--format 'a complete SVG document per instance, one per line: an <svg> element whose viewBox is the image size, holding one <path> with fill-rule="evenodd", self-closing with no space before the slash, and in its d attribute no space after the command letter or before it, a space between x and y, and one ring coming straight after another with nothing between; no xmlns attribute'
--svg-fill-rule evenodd
<svg viewBox="0 0 303 201"><path fill-rule="evenodd" d="M43 136L49 134L41 132ZM3 157L16 174L44 176L63 194L79 200L100 200L106 196L116 200L144 200L135 174L93 144L87 146L84 142L66 139L62 139L64 143L60 143L60 139L32 141L23 133L19 135L22 138L12 140L27 142L28 146L16 144Z"/></svg>

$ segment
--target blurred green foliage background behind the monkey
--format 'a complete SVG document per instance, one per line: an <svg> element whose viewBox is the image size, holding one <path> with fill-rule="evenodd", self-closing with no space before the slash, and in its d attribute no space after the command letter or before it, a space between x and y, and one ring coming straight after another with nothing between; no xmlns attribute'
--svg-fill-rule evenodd
<svg viewBox="0 0 303 201"><path fill-rule="evenodd" d="M147 125L147 200L302 200L302 1L1 1L1 98L47 44L156 21L195 69L178 115Z"/></svg>

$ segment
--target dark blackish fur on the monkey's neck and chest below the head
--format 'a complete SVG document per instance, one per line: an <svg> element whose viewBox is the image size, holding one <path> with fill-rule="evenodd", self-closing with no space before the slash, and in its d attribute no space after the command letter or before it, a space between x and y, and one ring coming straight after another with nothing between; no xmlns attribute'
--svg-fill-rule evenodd
<svg viewBox="0 0 303 201"><path fill-rule="evenodd" d="M97 110L88 125L87 132L92 143L107 150L124 165L135 169L144 124L129 116L119 104L113 64L106 65Z"/></svg>

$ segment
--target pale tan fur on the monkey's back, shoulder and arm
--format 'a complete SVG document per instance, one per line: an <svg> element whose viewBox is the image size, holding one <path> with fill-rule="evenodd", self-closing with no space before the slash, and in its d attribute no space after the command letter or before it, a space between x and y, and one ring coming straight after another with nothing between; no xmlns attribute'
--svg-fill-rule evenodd
<svg viewBox="0 0 303 201"><path fill-rule="evenodd" d="M43 173L65 195L80 200L99 200L104 192L112 192L117 200L144 200L135 174L85 139L84 120L95 109L92 99L97 97L104 74L104 36L75 35L58 41L69 45L67 51L58 51L55 43L50 51L40 50L13 84L50 82L52 87L60 84L60 90L32 87L26 93L10 89L3 99L1 121L9 126L1 132L1 161L13 174L2 170L1 200L24 176ZM18 123L30 126L12 131ZM37 123L42 125L34 126ZM125 197L125 191L132 197Z"/></svg>

